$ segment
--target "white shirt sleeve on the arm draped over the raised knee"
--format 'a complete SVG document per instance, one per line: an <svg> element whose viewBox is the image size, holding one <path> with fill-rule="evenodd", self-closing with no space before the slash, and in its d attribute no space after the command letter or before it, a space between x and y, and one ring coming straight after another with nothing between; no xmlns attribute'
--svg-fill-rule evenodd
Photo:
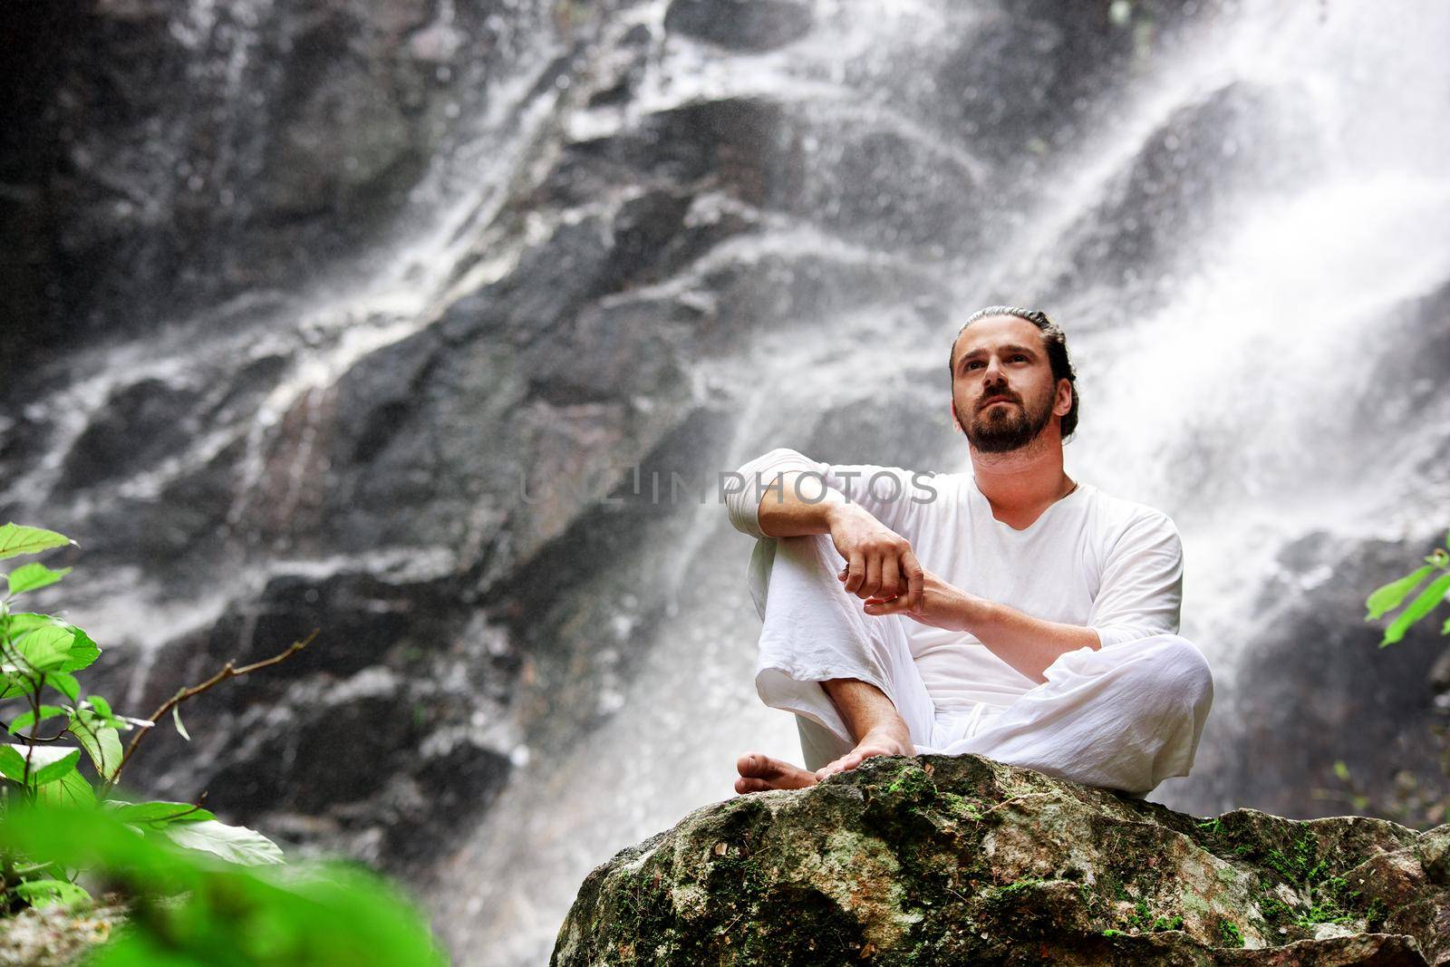
<svg viewBox="0 0 1450 967"><path fill-rule="evenodd" d="M813 477L799 481L800 494L813 499L819 494L818 483L840 490L851 503L861 505L873 518L896 531L908 519L915 502L922 502L928 489L909 470L900 467L877 467L874 464L826 464L789 448L777 448L742 464L728 476L722 487L729 522L742 534L755 538L768 536L760 529L761 497L773 499L779 490L767 493L780 474L802 471Z"/></svg>

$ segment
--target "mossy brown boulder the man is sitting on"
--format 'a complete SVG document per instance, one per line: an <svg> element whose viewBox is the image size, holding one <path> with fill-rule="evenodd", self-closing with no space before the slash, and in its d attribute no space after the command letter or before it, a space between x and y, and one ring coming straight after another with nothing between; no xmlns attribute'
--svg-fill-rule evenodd
<svg viewBox="0 0 1450 967"><path fill-rule="evenodd" d="M992 760L706 806L580 889L552 964L1428 964L1450 826L1196 819Z"/></svg>

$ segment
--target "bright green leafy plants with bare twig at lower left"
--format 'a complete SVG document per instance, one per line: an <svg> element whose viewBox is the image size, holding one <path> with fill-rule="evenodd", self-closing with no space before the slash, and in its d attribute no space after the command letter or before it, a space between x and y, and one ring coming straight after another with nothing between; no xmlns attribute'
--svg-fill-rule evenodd
<svg viewBox="0 0 1450 967"><path fill-rule="evenodd" d="M68 544L54 531L0 526L0 560ZM157 721L170 712L190 739L183 702L278 664L312 639L251 665L228 663L178 690L149 719L116 715L103 696L81 697L75 674L102 651L90 635L57 616L14 609L20 596L70 570L30 563L0 576L7 592L0 599L0 715L13 736L0 742L0 918L88 905L90 890L104 889L120 893L128 925L88 964L445 963L416 908L373 873L342 863L284 866L273 841L219 822L202 802L138 803L112 794ZM122 748L120 735L133 731Z"/></svg>

